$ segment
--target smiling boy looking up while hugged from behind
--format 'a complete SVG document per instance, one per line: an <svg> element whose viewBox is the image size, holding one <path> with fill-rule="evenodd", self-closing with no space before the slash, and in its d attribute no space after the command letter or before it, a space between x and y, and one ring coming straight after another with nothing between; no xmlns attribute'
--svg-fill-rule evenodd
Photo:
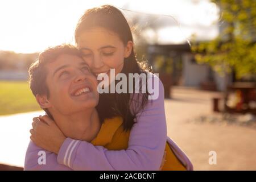
<svg viewBox="0 0 256 182"><path fill-rule="evenodd" d="M71 147L74 148L78 140L90 142L97 136L101 128L95 109L98 82L75 47L57 46L40 53L39 59L31 65L29 75L36 101L55 119L56 127L62 131L60 143L66 139L64 136L77 139L72 141ZM37 127L40 127L40 122L46 121L40 119ZM64 156L65 163L70 162L71 150L68 156ZM58 152L48 152L30 142L24 169L71 170L57 162Z"/></svg>

